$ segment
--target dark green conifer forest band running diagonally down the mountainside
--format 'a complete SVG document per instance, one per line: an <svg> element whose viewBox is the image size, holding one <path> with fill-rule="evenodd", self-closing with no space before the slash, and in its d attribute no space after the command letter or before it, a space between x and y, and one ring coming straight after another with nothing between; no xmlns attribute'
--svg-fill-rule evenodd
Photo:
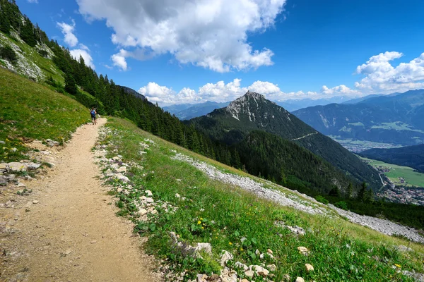
<svg viewBox="0 0 424 282"><path fill-rule="evenodd" d="M346 207L353 212L370 216L384 214L389 219L423 228L424 207L375 202L372 195L352 197L353 193L361 195L360 183L295 142L283 140L271 133L243 133L237 144L232 145L211 138L193 124L182 123L129 88L116 85L107 75L98 75L86 66L82 57L74 59L69 49L49 40L38 25L33 25L28 17L22 16L14 0L0 0L0 7L1 32L6 35L18 32L31 47L44 43L54 52L53 61L63 71L65 85L53 78L48 78L46 83L57 92L71 95L85 106L95 106L99 114L128 118L143 130L223 164L312 197L324 195L326 200L334 204L345 202ZM239 138L240 132L235 131L235 137ZM366 191L370 190L363 192Z"/></svg>

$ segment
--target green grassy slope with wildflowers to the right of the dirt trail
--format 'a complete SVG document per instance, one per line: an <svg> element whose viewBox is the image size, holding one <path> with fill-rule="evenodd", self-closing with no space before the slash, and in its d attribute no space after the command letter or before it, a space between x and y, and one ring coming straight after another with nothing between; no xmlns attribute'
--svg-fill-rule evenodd
<svg viewBox="0 0 424 282"><path fill-rule="evenodd" d="M284 274L290 274L290 281L294 281L296 276L303 276L307 281L413 281L396 270L422 270L423 245L382 235L338 217L305 214L261 200L235 185L212 180L193 166L172 159L172 156L175 151L180 152L206 161L220 171L247 176L235 168L160 140L128 121L112 118L107 128L110 133L100 144L107 145L108 157L121 154L126 164L143 167L131 165L127 173L135 192L125 195L117 192L117 186L112 188L117 197L117 207L121 209L118 214L134 222L135 232L149 236L149 252L165 259L175 272L186 271L184 281L198 273L219 272L221 250L228 250L235 256L232 263L276 264L276 271L272 272L275 275L273 281L283 281ZM146 142L146 138L153 140L154 145ZM145 150L146 154L139 154L141 142L150 145ZM117 182L110 184L117 185ZM276 185L274 188L281 189ZM155 202L167 202L177 207L176 211L165 212L157 207L157 214L141 220L134 211L143 190L151 190ZM181 197L176 197L177 193ZM307 231L306 235L294 235L288 229L274 225L276 220L290 226L301 226ZM211 243L213 254L202 254L203 259L194 259L173 247L171 231L177 233L179 240L185 244ZM242 242L242 238L246 240ZM414 251L405 254L396 251L394 245L409 245ZM307 247L310 255L301 255L297 250L299 246ZM268 248L273 250L275 260L260 259L254 255L256 250L266 252ZM312 264L315 270L307 273L305 263ZM399 268L393 269L394 264ZM230 265L233 264L230 262ZM242 277L242 271L235 270ZM254 280L264 281L259 277Z"/></svg>

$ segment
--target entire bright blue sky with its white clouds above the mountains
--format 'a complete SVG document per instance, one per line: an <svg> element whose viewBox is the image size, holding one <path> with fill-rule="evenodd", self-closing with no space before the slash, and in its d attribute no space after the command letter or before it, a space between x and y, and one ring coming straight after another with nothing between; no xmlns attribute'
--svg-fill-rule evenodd
<svg viewBox="0 0 424 282"><path fill-rule="evenodd" d="M424 1L187 2L17 0L95 71L160 104L424 87Z"/></svg>

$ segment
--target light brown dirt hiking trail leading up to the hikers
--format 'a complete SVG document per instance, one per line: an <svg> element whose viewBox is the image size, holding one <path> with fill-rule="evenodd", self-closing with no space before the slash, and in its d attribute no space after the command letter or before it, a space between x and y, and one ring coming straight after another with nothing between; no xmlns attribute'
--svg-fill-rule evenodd
<svg viewBox="0 0 424 282"><path fill-rule="evenodd" d="M0 281L161 281L99 180L90 149L105 123L100 118L78 128L57 150L56 168L25 182L33 189L25 198L30 202L0 210L14 218L12 232L0 238L3 255L11 252L0 265Z"/></svg>

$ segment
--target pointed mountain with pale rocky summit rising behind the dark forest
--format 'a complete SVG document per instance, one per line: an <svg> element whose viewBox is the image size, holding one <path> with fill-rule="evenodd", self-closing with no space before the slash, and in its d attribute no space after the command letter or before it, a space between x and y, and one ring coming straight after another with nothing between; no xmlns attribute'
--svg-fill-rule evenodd
<svg viewBox="0 0 424 282"><path fill-rule="evenodd" d="M271 133L273 136L304 147L358 182L365 180L375 189L381 186L377 171L331 138L317 132L283 107L265 99L261 94L247 92L225 108L216 109L206 116L193 118L187 123L228 145L246 145L246 140L249 138L252 142L251 135L257 130ZM255 137L257 140L264 139L258 134ZM259 143L259 141L256 142ZM264 145L261 146L266 146L263 147L266 152L273 149L270 142L263 143ZM266 152L261 154L268 154Z"/></svg>

